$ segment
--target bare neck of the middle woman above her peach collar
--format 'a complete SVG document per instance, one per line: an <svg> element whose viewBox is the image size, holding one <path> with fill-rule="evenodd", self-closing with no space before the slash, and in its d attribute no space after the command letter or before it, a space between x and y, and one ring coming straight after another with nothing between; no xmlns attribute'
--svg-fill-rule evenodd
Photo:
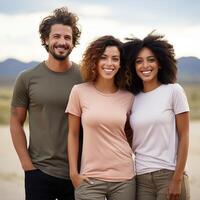
<svg viewBox="0 0 200 200"><path fill-rule="evenodd" d="M97 80L94 82L95 88L102 93L115 93L118 88L114 84L114 80Z"/></svg>

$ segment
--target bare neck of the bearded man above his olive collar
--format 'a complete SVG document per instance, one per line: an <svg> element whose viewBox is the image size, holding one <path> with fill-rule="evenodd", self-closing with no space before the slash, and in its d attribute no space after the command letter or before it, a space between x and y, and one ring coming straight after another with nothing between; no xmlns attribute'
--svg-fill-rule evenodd
<svg viewBox="0 0 200 200"><path fill-rule="evenodd" d="M65 72L72 66L68 57L65 60L56 60L51 55L49 55L45 63L49 69L55 72Z"/></svg>

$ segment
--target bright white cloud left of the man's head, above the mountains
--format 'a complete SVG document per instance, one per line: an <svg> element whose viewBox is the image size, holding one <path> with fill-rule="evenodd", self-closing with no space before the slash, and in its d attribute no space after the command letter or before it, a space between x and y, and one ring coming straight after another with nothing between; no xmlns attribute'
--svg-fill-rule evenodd
<svg viewBox="0 0 200 200"><path fill-rule="evenodd" d="M37 60L43 47L38 27L45 13L0 15L0 59L14 57L23 61ZM45 50L44 50L45 51Z"/></svg>

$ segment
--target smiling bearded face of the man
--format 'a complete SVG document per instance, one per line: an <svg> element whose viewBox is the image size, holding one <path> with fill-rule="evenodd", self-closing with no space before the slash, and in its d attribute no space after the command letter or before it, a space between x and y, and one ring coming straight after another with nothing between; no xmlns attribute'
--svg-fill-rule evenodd
<svg viewBox="0 0 200 200"><path fill-rule="evenodd" d="M63 24L52 25L46 44L49 53L56 60L65 60L74 47L71 27Z"/></svg>

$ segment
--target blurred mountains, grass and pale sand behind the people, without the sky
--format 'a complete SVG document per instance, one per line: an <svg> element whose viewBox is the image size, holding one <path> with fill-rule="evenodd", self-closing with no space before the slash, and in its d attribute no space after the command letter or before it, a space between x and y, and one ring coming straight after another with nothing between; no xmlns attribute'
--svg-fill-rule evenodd
<svg viewBox="0 0 200 200"><path fill-rule="evenodd" d="M17 75L37 61L22 62L13 58L0 62L0 196L4 200L24 199L24 173L12 145L9 133L10 101ZM200 59L178 59L178 82L185 89L190 105L190 149L187 171L190 178L191 200L200 195ZM28 138L28 124L25 125ZM12 190L12 192L10 192Z"/></svg>

